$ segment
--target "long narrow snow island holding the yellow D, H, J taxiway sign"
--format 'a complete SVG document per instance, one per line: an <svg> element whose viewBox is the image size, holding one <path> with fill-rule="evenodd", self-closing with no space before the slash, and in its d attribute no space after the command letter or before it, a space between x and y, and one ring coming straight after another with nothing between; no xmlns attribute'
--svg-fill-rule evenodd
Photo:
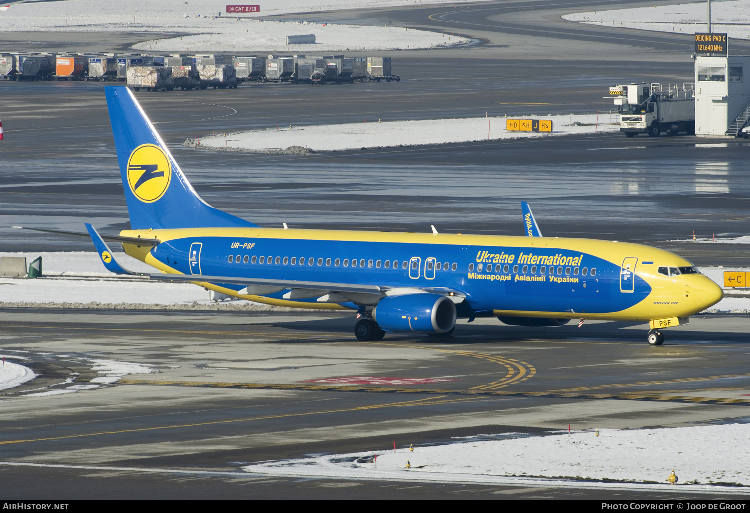
<svg viewBox="0 0 750 513"><path fill-rule="evenodd" d="M363 118L362 123L321 124L314 126L269 127L266 130L226 133L187 139L186 145L229 151L284 151L309 148L314 151L339 151L359 148L446 144L522 137L545 137L570 133L614 132L619 130L617 115L529 115L511 119L551 119L553 132L533 133L505 130L508 118L425 119L420 121L383 121Z"/></svg>

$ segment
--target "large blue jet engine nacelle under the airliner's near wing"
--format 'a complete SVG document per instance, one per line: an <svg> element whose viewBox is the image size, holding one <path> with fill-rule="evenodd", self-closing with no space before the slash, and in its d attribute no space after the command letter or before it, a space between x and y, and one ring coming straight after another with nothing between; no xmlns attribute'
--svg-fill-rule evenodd
<svg viewBox="0 0 750 513"><path fill-rule="evenodd" d="M447 333L456 323L456 305L439 294L386 296L372 315L386 332Z"/></svg>

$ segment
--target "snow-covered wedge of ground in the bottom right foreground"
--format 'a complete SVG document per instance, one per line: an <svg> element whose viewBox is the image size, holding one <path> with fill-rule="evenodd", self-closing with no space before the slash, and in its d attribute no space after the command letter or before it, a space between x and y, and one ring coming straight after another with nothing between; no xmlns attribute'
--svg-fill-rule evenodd
<svg viewBox="0 0 750 513"><path fill-rule="evenodd" d="M408 481L550 484L671 489L672 469L682 491L748 493L750 425L616 430L592 428L544 436L502 435L502 440L441 446L363 449L343 455L257 463L243 467L267 475ZM480 437L491 438L490 435ZM474 437L474 438L480 438ZM498 437L499 438L499 437ZM377 463L358 463L377 454ZM411 467L407 469L409 460ZM540 479L541 478L541 479ZM559 481L570 479L571 481ZM592 480L582 483L579 479ZM618 483L597 483L600 480ZM652 484L649 484L652 483ZM721 486L741 484L742 488Z"/></svg>

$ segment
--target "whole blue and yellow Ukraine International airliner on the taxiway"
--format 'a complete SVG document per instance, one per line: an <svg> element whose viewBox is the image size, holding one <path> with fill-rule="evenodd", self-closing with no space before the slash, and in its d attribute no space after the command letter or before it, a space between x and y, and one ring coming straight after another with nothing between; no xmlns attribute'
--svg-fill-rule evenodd
<svg viewBox="0 0 750 513"><path fill-rule="evenodd" d="M126 87L107 87L131 229L102 237L104 266L188 281L255 302L356 311L361 341L385 332L450 335L457 318L558 326L571 319L649 323L647 341L721 299L687 260L643 245L526 236L263 228L205 203ZM51 230L50 230L51 231ZM124 269L107 242L159 273Z"/></svg>

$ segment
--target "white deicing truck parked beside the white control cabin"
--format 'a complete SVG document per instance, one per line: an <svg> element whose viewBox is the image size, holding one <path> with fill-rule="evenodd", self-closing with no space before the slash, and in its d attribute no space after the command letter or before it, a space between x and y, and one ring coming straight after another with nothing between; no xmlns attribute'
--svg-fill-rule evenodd
<svg viewBox="0 0 750 513"><path fill-rule="evenodd" d="M609 89L619 106L619 131L627 137L648 133L695 133L694 84L628 84Z"/></svg>

